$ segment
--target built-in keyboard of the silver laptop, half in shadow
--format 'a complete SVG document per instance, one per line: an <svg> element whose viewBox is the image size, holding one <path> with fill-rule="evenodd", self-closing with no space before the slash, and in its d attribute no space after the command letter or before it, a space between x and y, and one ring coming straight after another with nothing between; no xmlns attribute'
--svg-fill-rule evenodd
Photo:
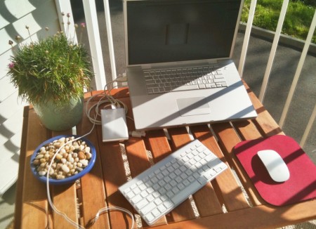
<svg viewBox="0 0 316 229"><path fill-rule="evenodd" d="M144 70L144 75L148 94L227 87L217 66Z"/></svg>

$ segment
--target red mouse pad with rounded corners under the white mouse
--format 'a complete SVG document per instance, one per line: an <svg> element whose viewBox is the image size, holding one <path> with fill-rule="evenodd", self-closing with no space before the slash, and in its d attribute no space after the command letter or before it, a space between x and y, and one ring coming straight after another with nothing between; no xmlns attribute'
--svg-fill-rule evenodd
<svg viewBox="0 0 316 229"><path fill-rule="evenodd" d="M275 182L257 152L275 150L289 169L289 180ZM293 138L276 135L245 140L234 149L235 155L266 202L282 206L316 197L316 166Z"/></svg>

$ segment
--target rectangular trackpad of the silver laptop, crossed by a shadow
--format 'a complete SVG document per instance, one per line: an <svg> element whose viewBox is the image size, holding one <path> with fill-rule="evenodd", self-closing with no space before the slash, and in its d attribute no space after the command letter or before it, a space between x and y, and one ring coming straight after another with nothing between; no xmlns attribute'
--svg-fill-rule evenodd
<svg viewBox="0 0 316 229"><path fill-rule="evenodd" d="M204 99L204 97L177 99L180 116L209 114L209 104Z"/></svg>

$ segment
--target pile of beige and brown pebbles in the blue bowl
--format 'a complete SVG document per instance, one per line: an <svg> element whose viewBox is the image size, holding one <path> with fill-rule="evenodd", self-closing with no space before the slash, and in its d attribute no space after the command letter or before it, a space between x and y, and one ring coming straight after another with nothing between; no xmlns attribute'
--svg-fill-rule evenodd
<svg viewBox="0 0 316 229"><path fill-rule="evenodd" d="M92 157L90 147L84 140L72 140L74 140L74 136L62 137L39 149L32 162L39 176L47 176L48 173L49 178L60 180L74 176L88 166L88 162ZM67 144L62 147L65 143ZM48 171L51 159L59 149L60 151L55 156L51 169Z"/></svg>

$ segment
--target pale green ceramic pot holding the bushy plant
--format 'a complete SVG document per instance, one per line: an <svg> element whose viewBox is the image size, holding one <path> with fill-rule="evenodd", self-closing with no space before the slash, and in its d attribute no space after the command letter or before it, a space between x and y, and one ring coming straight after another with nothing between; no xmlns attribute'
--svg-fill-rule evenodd
<svg viewBox="0 0 316 229"><path fill-rule="evenodd" d="M83 98L73 98L67 105L56 105L52 102L34 104L41 123L52 131L65 131L76 126L81 120L83 107Z"/></svg>

